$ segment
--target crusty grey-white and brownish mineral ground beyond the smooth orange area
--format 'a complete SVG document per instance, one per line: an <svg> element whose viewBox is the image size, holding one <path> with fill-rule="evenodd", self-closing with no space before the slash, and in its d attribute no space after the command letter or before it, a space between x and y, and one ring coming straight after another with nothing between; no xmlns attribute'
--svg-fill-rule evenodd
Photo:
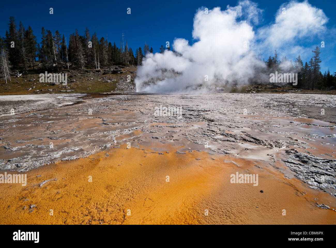
<svg viewBox="0 0 336 248"><path fill-rule="evenodd" d="M5 113L8 108L20 112L26 108L31 113L1 117L0 168L27 171L60 160L87 157L127 142L132 147L141 145L154 150L172 144L182 153L198 150L259 159L256 166L260 168L268 163L278 169L276 163L283 159L290 168L282 168L286 175L291 177L295 172L313 187L335 189L335 161L318 157L333 159L336 155L336 125L306 119L301 111L309 106L325 107L325 115L332 116L336 100L333 95L92 96L29 96L28 104L23 104L22 98L15 102L11 97L8 106L2 99ZM41 102L51 109L34 111L41 109ZM69 102L78 103L66 105ZM155 108L160 106L181 108L181 112L155 115ZM316 113L316 118L319 116L321 113ZM286 149L297 153L286 153ZM325 181L321 181L323 176Z"/></svg>

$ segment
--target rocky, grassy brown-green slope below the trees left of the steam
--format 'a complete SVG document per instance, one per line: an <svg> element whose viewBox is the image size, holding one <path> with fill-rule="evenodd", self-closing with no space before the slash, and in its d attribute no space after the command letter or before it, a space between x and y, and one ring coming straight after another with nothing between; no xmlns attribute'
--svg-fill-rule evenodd
<svg viewBox="0 0 336 248"><path fill-rule="evenodd" d="M121 70L113 72L113 70ZM0 80L0 95L15 94L45 94L45 93L99 93L110 91L134 91L135 66L110 66L100 70L78 69L63 70L67 73L67 85L52 85L40 83L39 74L43 70L28 71L20 77L11 77L11 82L5 84ZM49 73L49 71L48 71ZM56 73L56 72L55 72ZM131 76L131 82L127 82L127 75Z"/></svg>

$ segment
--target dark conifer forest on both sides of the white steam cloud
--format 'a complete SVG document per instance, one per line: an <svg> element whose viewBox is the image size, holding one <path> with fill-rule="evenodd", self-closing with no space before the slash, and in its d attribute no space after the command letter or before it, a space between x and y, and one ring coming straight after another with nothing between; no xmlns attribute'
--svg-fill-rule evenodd
<svg viewBox="0 0 336 248"><path fill-rule="evenodd" d="M34 63L38 61L39 69L62 70L64 68L91 68L99 69L100 66L112 64L142 65L142 60L149 53L154 53L153 48L147 43L136 48L133 52L128 46L127 39L120 40L120 46L116 43L108 42L107 38L98 39L94 32L90 35L88 28L84 34L80 35L76 29L70 34L69 45L67 38L61 35L58 30L52 33L50 30L41 29L41 42L37 42L36 36L30 26L25 29L22 22L17 28L14 17L9 17L8 30L5 37L0 36L0 72L2 77L10 80L12 74L10 70L19 75L18 70L27 71L28 68L35 69ZM167 50L170 50L167 45ZM161 45L160 53L164 53L166 47ZM173 50L172 50L173 51ZM173 51L175 52L175 51ZM286 57L278 59L277 51L273 57L263 62L270 71L284 71L298 73L297 88L306 89L335 89L336 73L332 74L328 70L321 73L321 51L317 46L313 51L312 58L303 65L300 55L294 64ZM259 58L260 59L260 58ZM285 69L284 69L285 68ZM263 70L262 73L266 74Z"/></svg>

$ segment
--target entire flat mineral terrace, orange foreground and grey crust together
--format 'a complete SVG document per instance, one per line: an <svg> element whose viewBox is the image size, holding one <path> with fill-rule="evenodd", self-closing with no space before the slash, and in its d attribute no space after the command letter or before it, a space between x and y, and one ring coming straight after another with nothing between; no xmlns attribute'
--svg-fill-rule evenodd
<svg viewBox="0 0 336 248"><path fill-rule="evenodd" d="M58 181L64 180L67 173L69 177L75 175L73 171L77 174L84 173L83 170L87 169L85 166L91 163L91 167L93 164L102 166L101 173L107 173L110 169L117 174L122 173L125 168L127 172L124 173L134 170L133 174L126 174L129 176L120 175L132 181L131 184L123 184L126 179L116 176L109 178L113 181L109 188L106 188L108 186L105 184L104 187L101 186L104 192L102 194L105 194L103 198L106 200L90 198L92 201L78 204L78 208L82 207L83 210L80 216L63 209L62 211L67 212L62 215L63 218L46 223L290 223L280 220L281 217L278 219L271 216L274 211L281 213L282 208L285 208L279 203L279 199L292 201L286 204L290 205L287 209L293 209L295 212L293 223L310 223L310 220L312 223L335 223L336 212L332 210L336 208L335 102L335 95L267 93L1 96L0 169L28 173L27 187L31 187L32 192L36 187L56 187L54 191L57 192L56 189L61 187L57 184L61 183ZM180 107L182 117L155 115L155 107L160 105L167 108ZM321 115L322 108L325 115ZM11 109L14 109L14 114L11 114ZM311 118L307 118L308 116ZM127 152L130 153L128 156ZM146 158L151 162L143 161ZM68 160L74 161L67 162ZM110 168L108 161L115 167ZM51 163L57 163L57 168L45 166ZM114 163L115 165L112 165ZM157 167L159 165L162 168ZM149 175L143 175L143 178L150 180L153 185L143 178L138 178L139 174L142 175L148 168L151 168L148 171L150 178ZM154 170L157 171L152 174ZM162 175L161 170L164 170ZM165 190L158 193L159 188L163 187L161 184L155 184L159 180L158 177L162 177L166 182L166 174L169 171L170 174L167 175L170 175L172 184L172 175L180 170L182 172L177 173L176 178L183 183L180 186L175 185L170 193ZM248 190L240 189L244 194L237 192L237 188L232 188L232 184L229 183L230 173L236 171L244 172L243 174L259 174L259 184L255 188L258 189L256 192L263 189L263 196L267 197L266 202L254 201L260 196L251 193L251 190L254 191L253 187L249 186ZM38 177L41 174L43 176ZM87 181L86 174L85 172ZM207 178L211 180L206 181ZM67 184L73 183L73 187L78 185L82 188L79 185L83 182L76 184L76 180ZM4 185L6 184L1 186ZM152 197L148 197L149 185L152 185ZM190 191L186 191L183 185L189 185ZM200 185L204 187L197 188ZM240 187L240 184L237 185L235 187ZM223 188L224 186L226 188ZM8 185L6 187L4 194L10 195ZM131 193L124 192L128 187ZM132 187L136 187L137 190L132 191ZM140 190L142 188L143 190ZM147 193L143 192L145 189ZM231 189L236 195L228 193L227 189ZM13 190L19 197L23 197L22 199L33 198L32 195L22 193L19 188ZM157 193L154 194L154 191ZM267 191L272 192L272 195L267 196ZM85 194L97 194L93 192L96 191ZM84 199L85 194L80 197ZM120 197L118 194L121 194ZM165 194L167 198L175 196L181 201L178 202L178 199L174 198L175 200L165 202L162 200ZM228 194L225 195L227 198L223 194ZM69 196L69 192L66 195ZM109 195L113 196L114 200ZM252 212L256 211L255 206L250 206L246 201L244 202L249 209L246 210L246 218L238 216L239 213L242 214L240 211L245 211L241 208L245 205L237 199L248 195L254 199L252 205L268 204L266 212L269 216L265 213L268 219ZM48 201L56 201L62 197L57 196L57 199ZM304 200L299 200L302 197ZM62 199L65 198L66 196ZM194 200L191 200L192 198ZM127 208L125 210L122 206L122 199L126 199L129 204L132 201L136 202L136 206L133 206L136 210L132 210L136 215L134 219L125 219ZM228 202L224 199L228 199ZM0 199L2 206L6 205L1 210L2 215L14 213L18 209L19 212L27 211L23 210L23 205L27 203L18 203L10 210L4 201L5 199ZM111 201L119 204L114 205ZM184 211L183 204L187 204L184 201L190 201L188 206L201 213L196 217L191 216L192 214L178 215L177 212ZM30 202L37 205L37 211L42 211L43 204L46 204L42 196ZM67 206L68 203L62 204ZM85 204L90 205L87 210ZM96 212L97 206L103 205L106 208L106 204L114 205L112 208L119 209L119 212L112 213L113 210L109 207L101 208L103 212L112 211L109 216L102 216L100 212ZM260 205L257 208L259 210ZM163 217L164 206L171 209L170 217ZM47 216L51 207L44 208L43 214ZM152 212L154 208L161 208L162 211L157 210L159 212L156 215L155 211ZM205 208L210 209L210 212L211 209L216 209L221 213L207 220L204 218ZM321 210L322 208L326 210ZM146 212L146 209L151 211ZM328 210L330 213L318 214L320 217L314 217L315 219L301 219L300 215L304 211L316 214L315 209ZM71 220L75 215L76 218ZM115 216L111 217L113 215ZM161 217L156 218L157 216ZM37 223L29 217L26 218L29 223ZM2 219L1 222L10 223L6 219Z"/></svg>

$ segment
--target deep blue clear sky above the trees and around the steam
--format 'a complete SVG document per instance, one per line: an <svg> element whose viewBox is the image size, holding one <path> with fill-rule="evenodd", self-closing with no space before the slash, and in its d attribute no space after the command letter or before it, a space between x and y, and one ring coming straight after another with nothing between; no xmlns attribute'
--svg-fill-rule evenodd
<svg viewBox="0 0 336 248"><path fill-rule="evenodd" d="M212 9L227 5L236 6L238 1L3 1L2 15L0 16L0 35L5 36L8 29L9 16L14 16L17 26L22 21L25 28L31 26L35 36L40 42L41 28L51 30L53 33L58 30L69 35L77 28L81 35L86 27L92 35L97 33L98 39L101 36L108 37L110 42L120 45L122 33L128 40L128 45L135 51L136 47L143 48L144 42L159 51L161 45L166 41L173 42L174 38L184 38L193 44L192 38L193 18L196 10L202 6ZM286 1L255 1L258 8L263 9L263 20L259 26L274 22L275 14L280 5ZM66 3L66 5L64 4ZM309 3L321 8L329 18L326 24L330 34L322 38L325 41L325 48L321 48L322 71L330 68L331 72L336 71L335 56L335 9L336 1L316 1ZM52 7L54 13L49 14ZM131 8L131 14L127 14L127 8ZM258 27L258 26L257 26ZM257 28L256 27L256 28ZM311 37L298 41L299 45L311 47L321 45L321 37ZM263 51L263 57L268 58L272 51ZM285 54L283 54L285 55ZM312 56L312 55L311 55ZM280 58L282 54L280 54ZM310 57L303 57L303 62ZM295 58L289 57L293 61Z"/></svg>

